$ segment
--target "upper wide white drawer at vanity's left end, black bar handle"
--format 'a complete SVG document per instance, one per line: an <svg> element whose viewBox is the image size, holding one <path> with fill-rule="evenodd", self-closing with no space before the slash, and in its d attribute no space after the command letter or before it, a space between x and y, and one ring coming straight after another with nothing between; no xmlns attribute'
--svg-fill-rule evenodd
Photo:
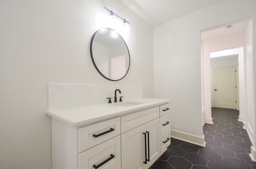
<svg viewBox="0 0 256 169"><path fill-rule="evenodd" d="M120 117L78 128L78 152L81 153L120 134Z"/></svg>

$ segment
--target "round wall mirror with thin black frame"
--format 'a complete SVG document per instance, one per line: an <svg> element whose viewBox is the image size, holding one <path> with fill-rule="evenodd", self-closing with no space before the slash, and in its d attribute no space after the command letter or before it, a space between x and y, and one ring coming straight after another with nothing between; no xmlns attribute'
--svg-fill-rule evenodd
<svg viewBox="0 0 256 169"><path fill-rule="evenodd" d="M124 39L113 29L96 31L90 45L97 71L110 81L123 79L130 67L130 53Z"/></svg>

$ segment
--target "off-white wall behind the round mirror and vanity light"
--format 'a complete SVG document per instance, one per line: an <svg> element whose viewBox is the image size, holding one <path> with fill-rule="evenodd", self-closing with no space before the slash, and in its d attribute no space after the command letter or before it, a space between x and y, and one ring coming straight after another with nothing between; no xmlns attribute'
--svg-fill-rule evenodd
<svg viewBox="0 0 256 169"><path fill-rule="evenodd" d="M90 57L104 7L131 23L130 70L116 82ZM1 0L0 21L1 169L51 169L48 83L143 85L154 97L153 28L119 0Z"/></svg>

